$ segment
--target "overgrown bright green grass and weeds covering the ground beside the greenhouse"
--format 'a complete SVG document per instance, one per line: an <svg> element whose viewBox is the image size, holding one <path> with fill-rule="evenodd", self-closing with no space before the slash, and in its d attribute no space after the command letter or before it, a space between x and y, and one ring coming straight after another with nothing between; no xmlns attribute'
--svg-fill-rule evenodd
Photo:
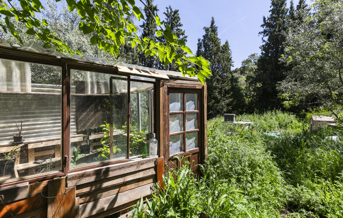
<svg viewBox="0 0 343 218"><path fill-rule="evenodd" d="M196 179L186 166L171 171L134 216L343 217L342 130L308 132L309 120L281 111L236 117L243 119L254 124L209 120L205 176Z"/></svg>

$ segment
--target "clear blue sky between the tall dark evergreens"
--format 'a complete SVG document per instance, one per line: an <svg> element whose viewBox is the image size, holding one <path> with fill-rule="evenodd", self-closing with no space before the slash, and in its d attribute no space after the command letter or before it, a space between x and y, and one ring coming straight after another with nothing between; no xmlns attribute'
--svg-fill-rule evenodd
<svg viewBox="0 0 343 218"><path fill-rule="evenodd" d="M287 0L289 7L290 0ZM214 17L218 27L218 35L222 44L228 40L232 50L234 68L240 67L241 62L251 53L260 53L262 18L269 15L271 0L155 0L159 9L158 15L165 18L163 12L169 5L178 9L181 23L188 36L187 46L195 53L198 38L204 34L203 27L209 26ZM294 0L295 5L298 3ZM136 4L142 4L136 0Z"/></svg>

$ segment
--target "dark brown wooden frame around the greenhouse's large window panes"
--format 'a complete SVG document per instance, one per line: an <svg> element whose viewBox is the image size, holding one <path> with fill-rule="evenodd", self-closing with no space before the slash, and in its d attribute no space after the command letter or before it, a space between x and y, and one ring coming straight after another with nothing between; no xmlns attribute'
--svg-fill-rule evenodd
<svg viewBox="0 0 343 218"><path fill-rule="evenodd" d="M78 69L78 70L86 70L86 71L92 71L92 72L98 72L98 73L106 73L111 75L118 75L118 76L126 76L128 78L128 88L129 88L129 81L130 81L130 75L132 76L138 76L137 74L131 74L128 72L119 72L118 68L116 66L112 65L102 65L98 63L91 63L81 60L73 60L69 58L59 57L59 56L52 56L48 54L42 54L37 52L31 52L31 51L24 51L14 48L7 48L7 47L0 47L0 58L10 61L19 61L19 62L26 62L26 63L34 63L34 64L42 64L42 65L50 65L50 66L56 66L61 67L61 80L62 80L62 91L61 91L61 164L62 169L60 171L51 172L49 174L43 174L43 175L31 175L29 177L19 177L17 179L13 179L11 181L0 181L0 187L8 187L10 185L15 184L21 184L23 182L38 182L43 181L47 179L52 179L60 176L66 176L71 172L79 172L84 171L87 169L94 169L98 167L105 167L109 165L115 165L119 163L125 163L129 162L130 159L124 159L120 161L107 161L106 163L98 162L96 164L92 164L86 167L79 167L75 169L69 168L69 150L70 150L70 97L71 97L71 78L70 78L70 70L71 69ZM157 93L156 93L156 84L159 83L160 79L156 78L154 76L146 76L142 75L141 77L145 78L152 78L155 79L155 81L145 81L145 80L139 80L139 79L132 79L139 82L147 82L154 84L154 96L153 96L153 106L154 108L157 108L158 103L156 101L157 99ZM130 92L128 91L128 97L130 95ZM128 103L130 103L128 98ZM158 129L156 128L156 112L153 111L153 128L155 131ZM130 122L130 104L128 106L128 121ZM130 132L128 125L128 132ZM127 142L127 147L129 150L129 137ZM127 154L129 157L129 152Z"/></svg>

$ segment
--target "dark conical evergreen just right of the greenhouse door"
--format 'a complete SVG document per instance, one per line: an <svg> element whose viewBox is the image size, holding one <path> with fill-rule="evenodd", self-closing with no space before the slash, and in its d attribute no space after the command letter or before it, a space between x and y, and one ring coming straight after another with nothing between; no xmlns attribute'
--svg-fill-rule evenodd
<svg viewBox="0 0 343 218"><path fill-rule="evenodd" d="M221 45L218 38L218 27L212 17L210 27L204 27L205 34L198 39L197 55L202 55L211 62L212 75L206 79L208 87L208 117L214 117L238 109L239 102L243 102L243 95L234 77L231 50L228 41Z"/></svg>

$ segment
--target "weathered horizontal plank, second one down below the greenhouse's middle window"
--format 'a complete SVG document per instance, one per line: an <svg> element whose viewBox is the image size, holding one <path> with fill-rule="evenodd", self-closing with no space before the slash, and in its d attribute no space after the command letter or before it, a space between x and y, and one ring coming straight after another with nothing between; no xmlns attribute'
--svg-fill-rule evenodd
<svg viewBox="0 0 343 218"><path fill-rule="evenodd" d="M146 176L151 176L151 175L156 175L155 167L130 172L130 173L125 174L125 175L118 175L118 176L114 176L114 177L110 177L110 178L106 178L106 179L102 179L102 180L97 180L94 182L88 182L85 184L77 185L76 186L76 194L78 195L78 194L88 192L88 191L92 191L95 189L102 189L102 188L105 188L105 187L110 186L110 185L116 185L119 183L123 183L126 181L130 181L130 180L134 180L134 179L142 178L142 177L146 177Z"/></svg>

